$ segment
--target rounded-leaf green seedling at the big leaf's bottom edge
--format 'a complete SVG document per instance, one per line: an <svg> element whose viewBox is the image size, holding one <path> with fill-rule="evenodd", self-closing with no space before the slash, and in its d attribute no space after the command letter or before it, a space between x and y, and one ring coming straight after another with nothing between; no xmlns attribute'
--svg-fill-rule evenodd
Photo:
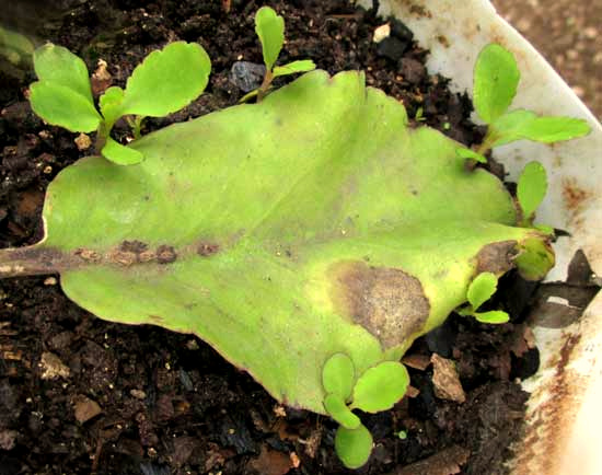
<svg viewBox="0 0 602 475"><path fill-rule="evenodd" d="M324 408L340 425L335 450L345 466L358 468L370 457L372 436L352 410L391 409L406 393L409 374L401 362L383 361L356 380L351 358L336 354L324 363L322 384L326 393Z"/></svg>

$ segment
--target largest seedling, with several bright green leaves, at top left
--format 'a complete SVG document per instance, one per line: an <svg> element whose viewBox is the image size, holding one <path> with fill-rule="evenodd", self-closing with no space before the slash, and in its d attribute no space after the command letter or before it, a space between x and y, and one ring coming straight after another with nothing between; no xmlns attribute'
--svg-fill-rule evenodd
<svg viewBox="0 0 602 475"><path fill-rule="evenodd" d="M48 124L73 132L97 131L97 149L119 165L139 163L143 155L111 137L121 116L134 116L136 138L144 117L163 117L194 101L206 88L211 62L196 43L174 42L152 51L127 81L108 88L94 106L88 68L68 49L47 44L34 51L38 81L30 88L32 108Z"/></svg>

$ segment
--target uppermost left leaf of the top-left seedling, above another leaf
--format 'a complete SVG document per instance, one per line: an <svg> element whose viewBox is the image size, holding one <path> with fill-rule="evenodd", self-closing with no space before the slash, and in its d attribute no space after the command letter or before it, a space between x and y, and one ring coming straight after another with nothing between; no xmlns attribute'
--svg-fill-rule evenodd
<svg viewBox="0 0 602 475"><path fill-rule="evenodd" d="M51 43L40 46L34 51L34 68L40 82L67 88L93 106L88 67L69 49Z"/></svg>

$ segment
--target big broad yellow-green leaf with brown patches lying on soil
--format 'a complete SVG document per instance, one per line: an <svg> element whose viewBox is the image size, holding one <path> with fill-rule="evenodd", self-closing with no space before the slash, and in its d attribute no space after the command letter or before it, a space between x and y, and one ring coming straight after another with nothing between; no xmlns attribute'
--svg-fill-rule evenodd
<svg viewBox="0 0 602 475"><path fill-rule="evenodd" d="M356 374L397 361L464 303L484 254L545 239L456 148L408 127L363 74L312 71L135 140L136 165L61 171L32 258L51 253L93 314L196 334L276 399L323 414L328 358Z"/></svg>

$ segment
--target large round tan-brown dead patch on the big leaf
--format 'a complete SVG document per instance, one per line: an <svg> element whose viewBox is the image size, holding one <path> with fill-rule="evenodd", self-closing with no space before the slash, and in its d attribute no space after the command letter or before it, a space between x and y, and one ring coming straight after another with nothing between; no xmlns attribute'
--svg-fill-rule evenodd
<svg viewBox="0 0 602 475"><path fill-rule="evenodd" d="M335 305L385 350L419 332L428 318L430 304L420 281L401 269L352 262L337 265L333 274Z"/></svg>

